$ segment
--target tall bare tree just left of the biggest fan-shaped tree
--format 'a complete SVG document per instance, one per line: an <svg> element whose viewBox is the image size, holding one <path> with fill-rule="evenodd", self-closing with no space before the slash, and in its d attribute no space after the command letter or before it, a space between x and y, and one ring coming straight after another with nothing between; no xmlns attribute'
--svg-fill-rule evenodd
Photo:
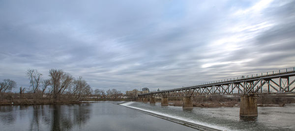
<svg viewBox="0 0 295 131"><path fill-rule="evenodd" d="M36 93L38 91L38 87L41 83L42 74L39 73L37 70L29 69L27 71L27 76L29 78L29 83L31 84L31 86L33 88L33 93Z"/></svg>

